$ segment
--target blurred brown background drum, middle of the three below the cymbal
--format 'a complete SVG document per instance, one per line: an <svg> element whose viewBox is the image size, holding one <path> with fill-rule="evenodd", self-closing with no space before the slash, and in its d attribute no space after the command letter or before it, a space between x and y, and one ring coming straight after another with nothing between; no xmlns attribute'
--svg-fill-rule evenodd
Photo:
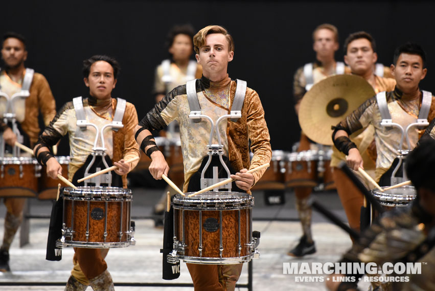
<svg viewBox="0 0 435 291"><path fill-rule="evenodd" d="M286 157L285 186L317 186L317 160L318 154L315 150L288 153Z"/></svg>

